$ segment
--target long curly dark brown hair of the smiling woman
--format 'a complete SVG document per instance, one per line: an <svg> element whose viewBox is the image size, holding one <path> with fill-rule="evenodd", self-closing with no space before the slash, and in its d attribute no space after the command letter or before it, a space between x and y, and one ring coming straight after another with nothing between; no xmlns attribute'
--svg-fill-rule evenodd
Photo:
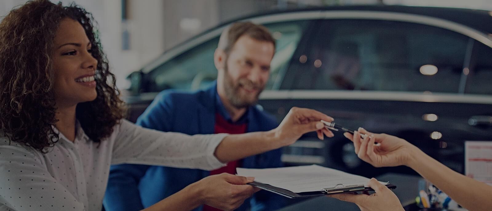
<svg viewBox="0 0 492 211"><path fill-rule="evenodd" d="M97 98L76 108L84 132L100 142L125 114L92 14L74 3L62 6L49 0L29 1L10 11L0 23L0 129L10 141L43 153L59 140L54 130L58 120L51 55L55 33L64 18L82 25L97 60Z"/></svg>

